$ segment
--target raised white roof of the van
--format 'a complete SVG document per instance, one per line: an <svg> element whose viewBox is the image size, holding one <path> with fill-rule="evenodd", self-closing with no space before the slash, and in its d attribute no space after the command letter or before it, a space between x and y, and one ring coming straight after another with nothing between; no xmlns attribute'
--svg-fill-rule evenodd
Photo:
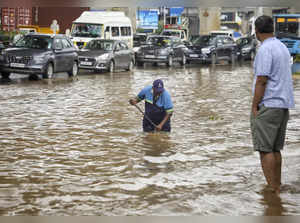
<svg viewBox="0 0 300 223"><path fill-rule="evenodd" d="M131 25L130 19L125 16L124 12L114 11L84 11L74 23L91 23L91 24L126 24Z"/></svg>

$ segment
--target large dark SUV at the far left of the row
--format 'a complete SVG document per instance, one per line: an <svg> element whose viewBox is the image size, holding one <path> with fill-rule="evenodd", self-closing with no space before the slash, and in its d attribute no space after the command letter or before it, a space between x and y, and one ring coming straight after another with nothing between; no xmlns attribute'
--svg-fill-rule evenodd
<svg viewBox="0 0 300 223"><path fill-rule="evenodd" d="M52 78L55 72L78 73L77 48L65 35L28 34L0 54L0 73L42 74Z"/></svg>

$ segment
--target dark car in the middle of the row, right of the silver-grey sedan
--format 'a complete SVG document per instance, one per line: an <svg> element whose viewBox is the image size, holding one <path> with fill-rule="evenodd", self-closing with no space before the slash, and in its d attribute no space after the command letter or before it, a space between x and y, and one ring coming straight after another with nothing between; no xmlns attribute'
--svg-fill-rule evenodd
<svg viewBox="0 0 300 223"><path fill-rule="evenodd" d="M136 52L136 63L138 66L143 66L144 63L165 63L172 66L173 62L185 65L186 50L187 47L178 37L151 35L148 36L146 45Z"/></svg>

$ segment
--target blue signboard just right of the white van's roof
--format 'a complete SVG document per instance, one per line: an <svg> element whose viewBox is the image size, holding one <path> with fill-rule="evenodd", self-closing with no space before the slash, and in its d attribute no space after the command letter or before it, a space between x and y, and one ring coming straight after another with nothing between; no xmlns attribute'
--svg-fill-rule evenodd
<svg viewBox="0 0 300 223"><path fill-rule="evenodd" d="M157 10L139 10L138 27L142 29L158 29L158 11Z"/></svg>

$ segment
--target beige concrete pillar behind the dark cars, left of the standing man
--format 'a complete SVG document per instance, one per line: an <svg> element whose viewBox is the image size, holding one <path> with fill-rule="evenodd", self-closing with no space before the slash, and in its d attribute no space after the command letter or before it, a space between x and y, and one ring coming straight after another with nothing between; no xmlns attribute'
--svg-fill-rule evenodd
<svg viewBox="0 0 300 223"><path fill-rule="evenodd" d="M200 35L208 34L211 30L219 30L220 16L220 7L199 8Z"/></svg>

